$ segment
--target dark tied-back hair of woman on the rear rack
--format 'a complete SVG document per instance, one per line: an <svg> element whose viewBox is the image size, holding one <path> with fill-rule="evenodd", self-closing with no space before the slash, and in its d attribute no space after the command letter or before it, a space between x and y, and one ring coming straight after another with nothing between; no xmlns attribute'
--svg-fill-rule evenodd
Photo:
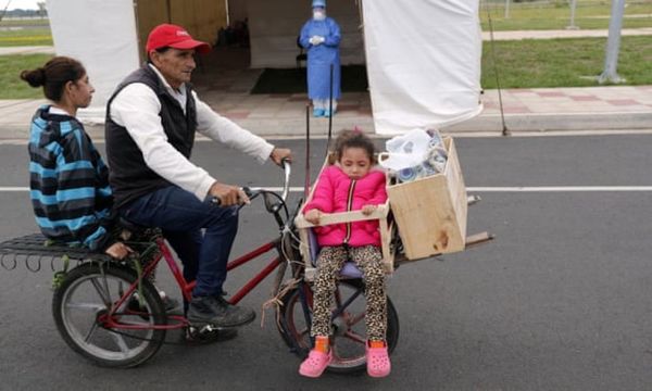
<svg viewBox="0 0 652 391"><path fill-rule="evenodd" d="M21 78L32 87L43 87L46 98L59 101L63 97L63 87L68 81L77 81L86 75L86 70L75 59L59 55L48 61L42 67L21 72Z"/></svg>

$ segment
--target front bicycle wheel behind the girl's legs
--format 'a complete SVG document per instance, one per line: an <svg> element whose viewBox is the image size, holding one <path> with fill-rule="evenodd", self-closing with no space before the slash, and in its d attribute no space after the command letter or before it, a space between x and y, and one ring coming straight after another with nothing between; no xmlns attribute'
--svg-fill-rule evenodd
<svg viewBox="0 0 652 391"><path fill-rule="evenodd" d="M312 319L312 308L310 314L303 311L300 289L309 289L308 285L289 291L283 298L281 336L285 342L292 351L305 358L312 341L310 338L310 319ZM354 373L366 369L365 343L366 326L364 323L365 299L362 294L362 280L342 280L339 282L335 295L335 303L346 303L350 298L356 298L333 320L334 335L331 338L333 361L328 365L328 370L334 373ZM308 292L312 298L312 292ZM312 306L312 299L309 300ZM306 320L306 317L309 320ZM391 352L399 341L399 315L389 299L387 298L387 348Z"/></svg>

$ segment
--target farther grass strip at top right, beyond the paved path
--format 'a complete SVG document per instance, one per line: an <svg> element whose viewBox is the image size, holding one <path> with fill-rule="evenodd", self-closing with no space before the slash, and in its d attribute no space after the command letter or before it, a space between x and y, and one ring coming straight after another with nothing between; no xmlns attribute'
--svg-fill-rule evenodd
<svg viewBox="0 0 652 391"><path fill-rule="evenodd" d="M505 1L480 7L482 30L489 30L489 15L493 30L565 29L570 22L569 2L549 1L537 3L510 2L505 18ZM652 1L628 1L623 28L652 27ZM611 1L577 0L575 26L582 29L609 28Z"/></svg>

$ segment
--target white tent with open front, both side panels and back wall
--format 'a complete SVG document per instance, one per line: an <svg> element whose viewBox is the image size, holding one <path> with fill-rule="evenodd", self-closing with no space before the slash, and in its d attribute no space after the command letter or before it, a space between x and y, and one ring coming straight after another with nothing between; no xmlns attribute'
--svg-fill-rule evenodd
<svg viewBox="0 0 652 391"><path fill-rule="evenodd" d="M364 41L377 133L450 125L481 111L478 0L359 1L364 39L350 39L347 51L360 53ZM265 66L268 61L293 66L287 53L296 51L300 24L274 21L304 21L310 0L271 4L279 3L247 3L252 65ZM355 8L355 2L328 0L329 12L338 7ZM92 106L80 116L102 122L106 99L139 65L134 0L48 0L48 12L57 53L79 59L97 90Z"/></svg>

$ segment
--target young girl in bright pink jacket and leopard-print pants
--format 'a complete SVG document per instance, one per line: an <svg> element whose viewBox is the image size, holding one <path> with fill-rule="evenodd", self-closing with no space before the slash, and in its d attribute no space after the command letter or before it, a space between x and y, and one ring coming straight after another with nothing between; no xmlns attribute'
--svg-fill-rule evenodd
<svg viewBox="0 0 652 391"><path fill-rule="evenodd" d="M303 209L305 219L318 225L326 213L361 210L371 214L385 203L385 174L374 169L374 144L359 130L342 131L335 144L336 163L319 175L313 199ZM299 373L318 377L331 360L328 344L333 291L340 268L350 257L360 267L365 282L367 328L367 373L373 377L389 375L387 353L387 297L380 250L378 220L355 222L315 227L322 248L314 282L314 307L311 335L315 346L301 364Z"/></svg>

